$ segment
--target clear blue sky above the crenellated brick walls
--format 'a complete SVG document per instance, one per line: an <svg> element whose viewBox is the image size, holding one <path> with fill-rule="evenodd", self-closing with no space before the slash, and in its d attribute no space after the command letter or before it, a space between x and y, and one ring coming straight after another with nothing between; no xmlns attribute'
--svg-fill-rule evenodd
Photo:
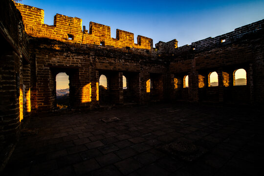
<svg viewBox="0 0 264 176"><path fill-rule="evenodd" d="M22 0L44 9L44 23L53 25L56 13L146 36L178 41L178 46L233 31L264 19L264 0ZM136 43L136 42L135 42Z"/></svg>

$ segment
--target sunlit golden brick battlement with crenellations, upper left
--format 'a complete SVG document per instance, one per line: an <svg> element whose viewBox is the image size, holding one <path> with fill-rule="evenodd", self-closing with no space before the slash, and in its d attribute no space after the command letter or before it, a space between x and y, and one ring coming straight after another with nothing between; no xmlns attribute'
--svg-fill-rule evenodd
<svg viewBox="0 0 264 176"><path fill-rule="evenodd" d="M26 33L33 37L69 43L153 49L153 40L144 36L137 36L137 44L134 44L133 33L116 29L116 38L111 38L110 26L96 22L89 23L88 32L82 30L82 19L61 14L54 16L54 25L47 25L44 24L43 9L20 3L15 5L21 12Z"/></svg>

